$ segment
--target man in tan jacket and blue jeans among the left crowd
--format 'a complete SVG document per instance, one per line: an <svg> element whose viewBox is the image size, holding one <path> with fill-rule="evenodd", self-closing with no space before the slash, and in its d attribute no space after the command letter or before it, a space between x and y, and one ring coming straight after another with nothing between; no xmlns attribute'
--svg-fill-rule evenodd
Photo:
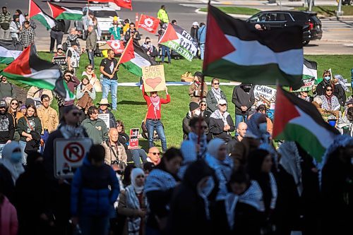
<svg viewBox="0 0 353 235"><path fill-rule="evenodd" d="M42 123L42 133L40 135L42 147L40 152L43 153L44 143L47 142L49 133L55 131L59 125L59 117L56 110L49 106L49 95L43 94L40 100L42 101L42 105L37 109L37 114Z"/></svg>

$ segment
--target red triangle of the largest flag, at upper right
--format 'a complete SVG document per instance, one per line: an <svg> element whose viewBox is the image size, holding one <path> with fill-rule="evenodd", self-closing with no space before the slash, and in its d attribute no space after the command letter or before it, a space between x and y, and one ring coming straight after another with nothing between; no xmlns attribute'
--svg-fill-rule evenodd
<svg viewBox="0 0 353 235"><path fill-rule="evenodd" d="M203 60L204 70L208 64L222 59L223 56L226 56L236 50L227 37L225 37L225 32L222 31L210 11L208 12L207 23L205 59Z"/></svg>

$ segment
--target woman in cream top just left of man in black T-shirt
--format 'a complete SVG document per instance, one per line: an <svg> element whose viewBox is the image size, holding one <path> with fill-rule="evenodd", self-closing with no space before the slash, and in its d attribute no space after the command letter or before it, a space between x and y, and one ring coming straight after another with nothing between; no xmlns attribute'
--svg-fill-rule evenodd
<svg viewBox="0 0 353 235"><path fill-rule="evenodd" d="M93 100L95 100L95 88L90 84L87 76L82 76L81 83L76 89L76 99L78 109L83 109L87 114L88 108L93 106Z"/></svg>

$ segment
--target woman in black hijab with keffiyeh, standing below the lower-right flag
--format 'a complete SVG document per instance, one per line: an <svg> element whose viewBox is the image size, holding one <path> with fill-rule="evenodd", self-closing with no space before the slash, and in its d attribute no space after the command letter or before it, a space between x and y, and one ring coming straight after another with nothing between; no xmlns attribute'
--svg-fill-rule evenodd
<svg viewBox="0 0 353 235"><path fill-rule="evenodd" d="M277 203L277 183L275 176L271 173L273 167L270 152L266 150L255 150L250 153L247 164L250 179L257 181L263 193L261 200L261 211L263 212L262 232L270 234L273 230L273 211Z"/></svg>

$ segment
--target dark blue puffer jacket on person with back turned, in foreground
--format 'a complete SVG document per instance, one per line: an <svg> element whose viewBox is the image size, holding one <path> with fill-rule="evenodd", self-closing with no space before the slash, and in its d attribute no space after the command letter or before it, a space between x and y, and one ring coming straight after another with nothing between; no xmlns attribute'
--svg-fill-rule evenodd
<svg viewBox="0 0 353 235"><path fill-rule="evenodd" d="M108 186L111 187L109 190ZM76 170L71 185L71 214L73 217L107 216L119 195L119 181L112 167L92 166L88 158Z"/></svg>

